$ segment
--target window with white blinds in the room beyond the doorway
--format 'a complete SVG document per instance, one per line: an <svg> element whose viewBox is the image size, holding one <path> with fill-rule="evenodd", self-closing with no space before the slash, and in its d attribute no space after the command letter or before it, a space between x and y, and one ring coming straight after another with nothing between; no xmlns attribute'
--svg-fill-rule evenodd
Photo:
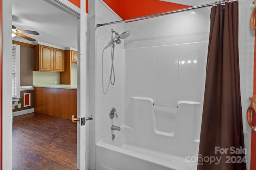
<svg viewBox="0 0 256 170"><path fill-rule="evenodd" d="M20 45L12 44L12 101L20 100Z"/></svg>

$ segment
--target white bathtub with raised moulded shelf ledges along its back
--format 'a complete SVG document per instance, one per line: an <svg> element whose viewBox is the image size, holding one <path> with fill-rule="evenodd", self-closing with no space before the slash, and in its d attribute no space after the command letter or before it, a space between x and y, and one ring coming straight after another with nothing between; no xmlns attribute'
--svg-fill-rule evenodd
<svg viewBox="0 0 256 170"><path fill-rule="evenodd" d="M202 105L180 101L178 108L165 108L136 97L132 102L129 126L112 130L114 140L110 135L96 143L96 169L196 170L197 162L189 162L188 156L198 154Z"/></svg>

